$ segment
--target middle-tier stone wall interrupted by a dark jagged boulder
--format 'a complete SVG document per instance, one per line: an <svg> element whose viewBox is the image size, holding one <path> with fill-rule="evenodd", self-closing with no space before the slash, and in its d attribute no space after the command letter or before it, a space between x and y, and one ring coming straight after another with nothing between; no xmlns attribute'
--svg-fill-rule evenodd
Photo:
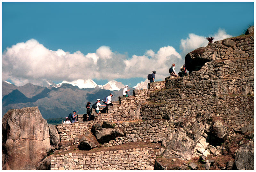
<svg viewBox="0 0 256 172"><path fill-rule="evenodd" d="M60 140L72 141L76 137L90 132L92 125L97 121L89 121L85 123L60 124L57 125L60 134ZM173 120L143 120L138 122L116 122L115 129L120 129L126 133L123 137L117 137L105 145L113 146L127 142L149 141L159 142L168 135L168 132L174 127Z"/></svg>

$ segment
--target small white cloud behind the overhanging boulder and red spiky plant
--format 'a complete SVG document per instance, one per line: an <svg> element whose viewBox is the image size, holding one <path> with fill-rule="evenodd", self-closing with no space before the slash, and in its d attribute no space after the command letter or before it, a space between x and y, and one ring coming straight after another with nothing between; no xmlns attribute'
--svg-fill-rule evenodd
<svg viewBox="0 0 256 172"><path fill-rule="evenodd" d="M199 47L205 47L208 44L208 40L205 39L206 37L214 37L213 42L223 40L229 37L232 37L232 35L228 35L224 29L219 28L218 32L214 35L208 35L208 36L199 36L195 34L188 34L187 39L181 39L180 40L180 49L182 50L181 56L185 57L186 54L189 52L199 48Z"/></svg>

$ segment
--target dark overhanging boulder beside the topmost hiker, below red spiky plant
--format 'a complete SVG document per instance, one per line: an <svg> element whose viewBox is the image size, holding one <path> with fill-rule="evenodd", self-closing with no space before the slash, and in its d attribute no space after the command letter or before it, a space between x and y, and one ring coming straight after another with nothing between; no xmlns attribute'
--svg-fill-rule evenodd
<svg viewBox="0 0 256 172"><path fill-rule="evenodd" d="M189 72L198 71L208 61L214 60L216 51L210 47L200 47L185 56L185 66Z"/></svg>

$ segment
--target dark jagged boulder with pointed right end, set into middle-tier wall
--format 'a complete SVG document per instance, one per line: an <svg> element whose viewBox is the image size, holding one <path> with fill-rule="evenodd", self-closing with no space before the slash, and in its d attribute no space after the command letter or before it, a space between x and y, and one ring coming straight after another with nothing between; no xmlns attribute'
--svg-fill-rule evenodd
<svg viewBox="0 0 256 172"><path fill-rule="evenodd" d="M124 136L125 134L119 130L110 128L111 124L98 123L92 126L92 133L96 137L99 143L105 143L110 140L114 140L116 137ZM103 128L106 127L106 128Z"/></svg>

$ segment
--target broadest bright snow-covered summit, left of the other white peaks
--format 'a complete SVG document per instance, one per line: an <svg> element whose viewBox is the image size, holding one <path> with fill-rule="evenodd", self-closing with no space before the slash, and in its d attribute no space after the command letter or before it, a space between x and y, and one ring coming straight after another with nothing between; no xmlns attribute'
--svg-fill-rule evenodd
<svg viewBox="0 0 256 172"><path fill-rule="evenodd" d="M98 85L91 79L83 80L83 79L78 79L76 81L68 82L68 81L62 81L61 83L57 84L58 87L61 86L63 83L68 83L73 86L77 86L78 88L95 88Z"/></svg>

